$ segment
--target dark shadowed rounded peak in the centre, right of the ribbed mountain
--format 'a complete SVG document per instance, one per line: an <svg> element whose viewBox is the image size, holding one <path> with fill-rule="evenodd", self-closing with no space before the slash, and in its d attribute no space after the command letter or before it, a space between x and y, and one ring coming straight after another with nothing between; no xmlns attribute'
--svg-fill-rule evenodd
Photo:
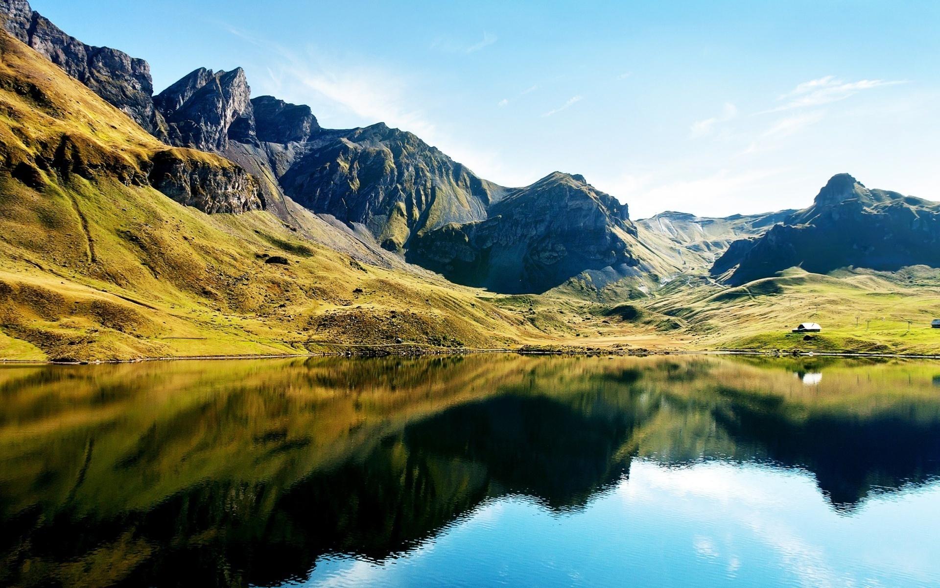
<svg viewBox="0 0 940 588"><path fill-rule="evenodd" d="M553 173L494 203L487 220L415 237L409 261L458 283L540 293L585 270L641 264L627 207L584 181Z"/></svg>

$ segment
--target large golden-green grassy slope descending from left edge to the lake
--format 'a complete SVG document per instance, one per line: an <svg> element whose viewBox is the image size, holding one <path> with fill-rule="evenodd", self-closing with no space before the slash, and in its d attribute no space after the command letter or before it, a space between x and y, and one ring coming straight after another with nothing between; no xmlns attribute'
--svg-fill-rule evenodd
<svg viewBox="0 0 940 588"><path fill-rule="evenodd" d="M6 34L0 54L0 356L289 354L396 338L489 347L540 336L472 290L365 265L270 213L180 205L144 181L158 153L233 164L168 150Z"/></svg>

